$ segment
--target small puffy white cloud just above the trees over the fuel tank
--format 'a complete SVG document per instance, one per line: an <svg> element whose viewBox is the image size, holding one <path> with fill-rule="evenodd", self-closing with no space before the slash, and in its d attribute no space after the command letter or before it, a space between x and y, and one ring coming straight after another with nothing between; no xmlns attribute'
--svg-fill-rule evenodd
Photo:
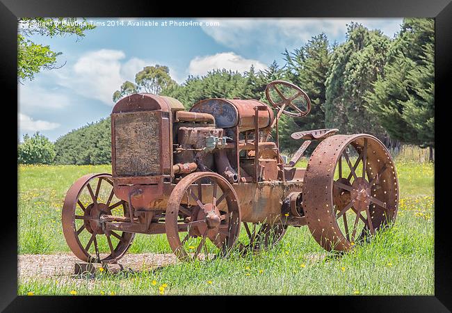
<svg viewBox="0 0 452 313"><path fill-rule="evenodd" d="M265 70L266 65L263 63L243 58L234 54L234 52L223 52L214 54L213 56L197 56L190 61L188 65L188 73L194 76L202 76L207 74L210 70L223 69L245 72L250 70L251 65L255 66L256 70Z"/></svg>

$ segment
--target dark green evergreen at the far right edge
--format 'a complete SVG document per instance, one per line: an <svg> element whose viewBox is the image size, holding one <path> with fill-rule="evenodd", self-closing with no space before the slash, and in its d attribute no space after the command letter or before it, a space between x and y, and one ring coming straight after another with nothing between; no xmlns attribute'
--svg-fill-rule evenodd
<svg viewBox="0 0 452 313"><path fill-rule="evenodd" d="M434 20L404 19L384 72L365 97L392 138L430 147L430 160L435 147L434 61Z"/></svg>

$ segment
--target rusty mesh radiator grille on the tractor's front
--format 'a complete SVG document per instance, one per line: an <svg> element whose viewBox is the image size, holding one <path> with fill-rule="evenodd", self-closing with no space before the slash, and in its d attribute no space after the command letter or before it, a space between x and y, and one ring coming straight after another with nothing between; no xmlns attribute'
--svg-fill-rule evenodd
<svg viewBox="0 0 452 313"><path fill-rule="evenodd" d="M161 138L156 112L115 116L115 175L159 175Z"/></svg>

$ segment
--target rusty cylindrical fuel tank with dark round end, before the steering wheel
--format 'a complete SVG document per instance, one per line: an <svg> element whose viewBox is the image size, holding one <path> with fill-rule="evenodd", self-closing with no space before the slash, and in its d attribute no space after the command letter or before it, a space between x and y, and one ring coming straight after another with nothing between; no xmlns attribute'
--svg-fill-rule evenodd
<svg viewBox="0 0 452 313"><path fill-rule="evenodd" d="M273 110L263 102L257 100L211 98L197 102L190 109L191 112L209 113L213 115L218 128L239 127L239 131L255 128L255 107L265 106L266 110L259 111L259 128L271 125Z"/></svg>

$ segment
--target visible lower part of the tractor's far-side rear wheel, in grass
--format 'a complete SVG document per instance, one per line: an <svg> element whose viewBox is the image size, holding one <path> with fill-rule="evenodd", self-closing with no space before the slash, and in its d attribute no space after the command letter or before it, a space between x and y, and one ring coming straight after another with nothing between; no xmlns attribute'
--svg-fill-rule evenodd
<svg viewBox="0 0 452 313"><path fill-rule="evenodd" d="M242 235L239 250L259 252L275 246L286 234L287 225L268 223L243 223L246 236Z"/></svg>

